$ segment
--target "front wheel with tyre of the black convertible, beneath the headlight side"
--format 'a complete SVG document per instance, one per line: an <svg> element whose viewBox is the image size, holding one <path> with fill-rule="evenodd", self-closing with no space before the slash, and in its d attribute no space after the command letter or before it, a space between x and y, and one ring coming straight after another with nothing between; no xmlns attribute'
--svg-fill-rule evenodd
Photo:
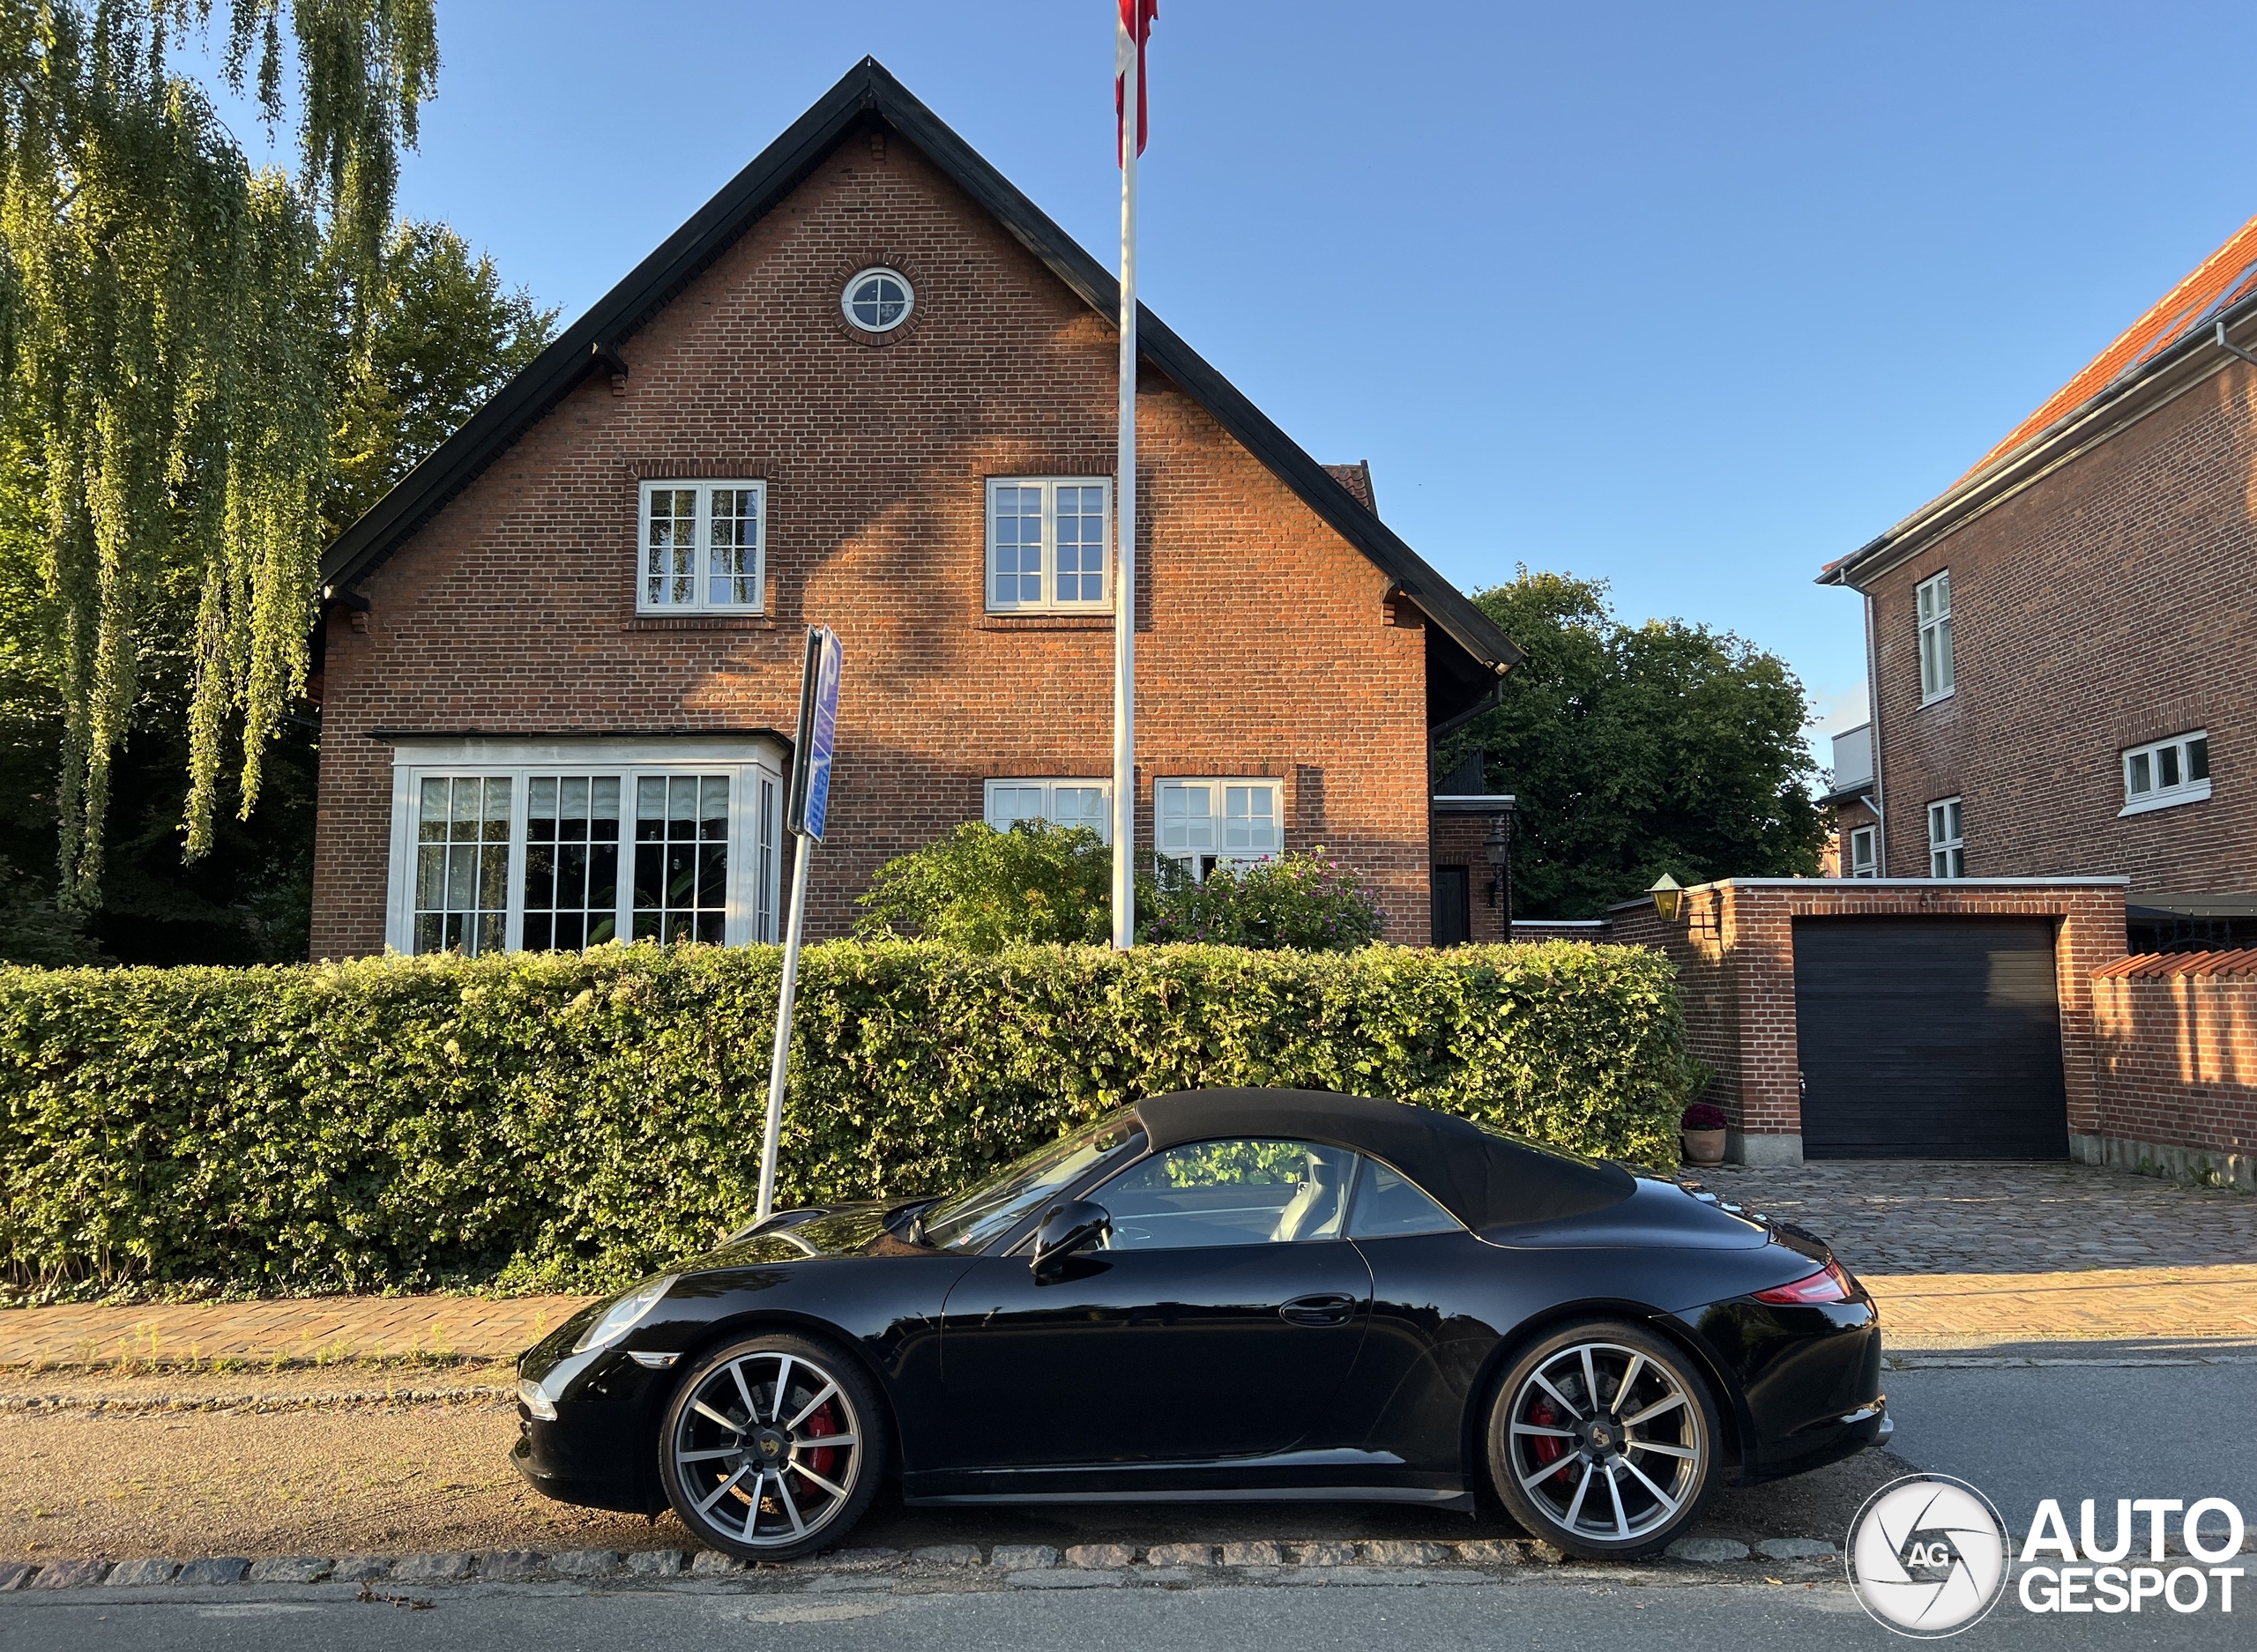
<svg viewBox="0 0 2257 1652"><path fill-rule="evenodd" d="M862 1368L806 1336L706 1354L659 1433L666 1501L743 1559L792 1559L844 1537L878 1494L885 1404Z"/></svg>

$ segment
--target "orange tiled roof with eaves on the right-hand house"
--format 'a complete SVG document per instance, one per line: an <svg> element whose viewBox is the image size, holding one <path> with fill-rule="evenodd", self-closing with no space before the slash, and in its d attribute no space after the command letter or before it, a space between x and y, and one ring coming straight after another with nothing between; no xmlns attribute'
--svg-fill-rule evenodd
<svg viewBox="0 0 2257 1652"><path fill-rule="evenodd" d="M2006 431L1975 467L1885 535L1835 557L1819 585L1860 587L1914 555L1939 533L1988 510L2006 494L2106 440L2180 390L2221 372L2239 354L2228 336L2257 316L2257 219L2194 266L2027 420ZM2234 350L2234 354L2228 354Z"/></svg>

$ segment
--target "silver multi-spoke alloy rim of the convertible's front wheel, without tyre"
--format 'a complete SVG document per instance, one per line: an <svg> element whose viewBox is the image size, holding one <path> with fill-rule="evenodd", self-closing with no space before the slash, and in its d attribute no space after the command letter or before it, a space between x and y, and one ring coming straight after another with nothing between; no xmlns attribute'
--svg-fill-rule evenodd
<svg viewBox="0 0 2257 1652"><path fill-rule="evenodd" d="M745 1548L803 1544L853 1501L862 1440L846 1386L806 1354L756 1350L722 1361L677 1411L684 1514Z"/></svg>

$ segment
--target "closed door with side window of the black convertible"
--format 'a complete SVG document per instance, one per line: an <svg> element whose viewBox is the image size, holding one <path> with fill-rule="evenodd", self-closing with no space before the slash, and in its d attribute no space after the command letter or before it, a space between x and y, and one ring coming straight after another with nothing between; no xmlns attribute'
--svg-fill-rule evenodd
<svg viewBox="0 0 2257 1652"><path fill-rule="evenodd" d="M950 1467L1253 1458L1291 1449L1363 1338L1372 1275L1343 1234L1354 1153L1196 1142L1090 1198L1110 1244L1036 1280L984 1257L941 1316Z"/></svg>

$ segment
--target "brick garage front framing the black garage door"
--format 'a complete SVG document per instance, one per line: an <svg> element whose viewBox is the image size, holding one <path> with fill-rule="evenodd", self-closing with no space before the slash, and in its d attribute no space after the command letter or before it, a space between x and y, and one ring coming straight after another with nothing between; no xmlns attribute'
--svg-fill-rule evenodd
<svg viewBox="0 0 2257 1652"><path fill-rule="evenodd" d="M2092 973L2124 955L2117 885L1889 885L1873 880L1727 880L1686 891L1686 916L1663 925L1650 900L1611 912L1614 939L1659 946L1677 964L1688 1045L1715 1067L1704 1101L1736 1131L1803 1128L1794 1036L1794 919L1853 914L2052 916L2061 995L2061 1063L2070 1131L2099 1117Z"/></svg>

